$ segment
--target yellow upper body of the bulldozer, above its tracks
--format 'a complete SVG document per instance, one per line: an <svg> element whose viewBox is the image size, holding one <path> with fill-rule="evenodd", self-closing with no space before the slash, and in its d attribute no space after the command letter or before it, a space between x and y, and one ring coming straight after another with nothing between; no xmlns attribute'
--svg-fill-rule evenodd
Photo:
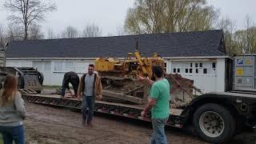
<svg viewBox="0 0 256 144"><path fill-rule="evenodd" d="M118 77L137 78L138 75L151 78L151 67L160 65L164 68L164 61L154 53L153 58L142 58L138 50L135 50L132 58L132 53L128 53L128 57L124 60L117 58L97 58L95 68L102 75L114 74Z"/></svg>

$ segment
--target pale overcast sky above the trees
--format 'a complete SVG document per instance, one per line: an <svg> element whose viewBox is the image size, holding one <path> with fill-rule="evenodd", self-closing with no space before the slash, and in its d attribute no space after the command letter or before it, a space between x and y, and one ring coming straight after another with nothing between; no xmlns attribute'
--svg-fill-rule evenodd
<svg viewBox="0 0 256 144"><path fill-rule="evenodd" d="M66 26L82 30L88 22L102 28L102 35L117 34L117 26L122 26L126 11L134 5L134 0L55 0L58 8L46 15L43 30L48 27L59 33ZM256 22L256 0L208 0L210 5L221 10L222 16L236 21L238 29L245 26L246 14ZM0 0L2 5L3 0ZM6 12L0 11L0 24L6 26Z"/></svg>

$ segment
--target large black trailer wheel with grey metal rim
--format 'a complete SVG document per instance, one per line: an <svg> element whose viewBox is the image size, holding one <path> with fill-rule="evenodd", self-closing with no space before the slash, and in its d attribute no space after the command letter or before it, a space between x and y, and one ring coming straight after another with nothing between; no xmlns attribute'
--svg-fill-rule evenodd
<svg viewBox="0 0 256 144"><path fill-rule="evenodd" d="M230 111L214 103L199 107L194 113L193 124L200 138L214 143L229 141L236 129Z"/></svg>

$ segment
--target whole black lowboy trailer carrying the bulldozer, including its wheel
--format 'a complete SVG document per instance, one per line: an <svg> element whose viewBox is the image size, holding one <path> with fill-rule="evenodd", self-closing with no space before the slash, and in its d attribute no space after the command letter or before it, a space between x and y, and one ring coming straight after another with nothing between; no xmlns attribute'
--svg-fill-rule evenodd
<svg viewBox="0 0 256 144"><path fill-rule="evenodd" d="M60 98L56 94L22 94L26 102L50 106L81 109L82 102L76 98ZM141 117L144 105L122 104L96 100L95 112L113 114L150 122L150 112ZM166 126L183 128L193 126L198 136L206 142L228 142L243 128L256 124L256 90L231 90L222 93L202 94L189 105L171 109Z"/></svg>

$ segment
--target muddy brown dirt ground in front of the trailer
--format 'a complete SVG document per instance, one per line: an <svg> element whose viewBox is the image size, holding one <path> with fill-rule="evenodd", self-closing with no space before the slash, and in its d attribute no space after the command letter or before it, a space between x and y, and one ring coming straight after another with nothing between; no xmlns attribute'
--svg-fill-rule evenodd
<svg viewBox="0 0 256 144"><path fill-rule="evenodd" d="M42 106L26 102L26 142L37 143L149 143L152 133L150 122L113 117L107 114L94 116L94 127L82 127L78 111ZM171 144L202 144L186 130L167 128ZM231 143L256 143L256 134L238 136Z"/></svg>

